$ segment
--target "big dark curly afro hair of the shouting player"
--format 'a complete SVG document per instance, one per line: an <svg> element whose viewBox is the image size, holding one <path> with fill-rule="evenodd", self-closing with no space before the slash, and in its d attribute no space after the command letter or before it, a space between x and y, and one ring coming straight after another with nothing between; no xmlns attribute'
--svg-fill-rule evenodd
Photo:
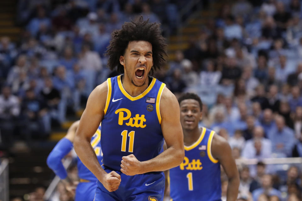
<svg viewBox="0 0 302 201"><path fill-rule="evenodd" d="M167 45L165 38L161 35L159 23L149 23L149 19L144 21L140 16L136 21L125 22L122 29L113 31L111 36L112 40L105 54L109 56L108 66L111 70L117 67L119 73L124 73L124 66L120 64L120 56L125 54L130 41L148 41L152 44L153 68L151 68L151 73L165 64Z"/></svg>

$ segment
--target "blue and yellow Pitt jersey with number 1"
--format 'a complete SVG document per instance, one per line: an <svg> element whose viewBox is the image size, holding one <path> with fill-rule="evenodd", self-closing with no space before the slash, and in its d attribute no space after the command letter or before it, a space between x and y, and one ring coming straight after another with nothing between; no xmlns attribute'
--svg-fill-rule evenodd
<svg viewBox="0 0 302 201"><path fill-rule="evenodd" d="M203 127L199 139L185 146L182 164L170 170L173 201L221 200L220 163L211 154L214 133Z"/></svg>

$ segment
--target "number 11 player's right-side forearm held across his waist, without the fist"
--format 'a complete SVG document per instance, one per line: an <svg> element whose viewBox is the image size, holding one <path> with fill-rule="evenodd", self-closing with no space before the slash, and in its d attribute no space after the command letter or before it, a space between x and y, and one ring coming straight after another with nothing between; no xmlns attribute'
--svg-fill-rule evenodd
<svg viewBox="0 0 302 201"><path fill-rule="evenodd" d="M165 171L173 167L179 166L184 158L184 151L182 149L175 149L170 147L164 152L151 160L142 162L142 173L153 171Z"/></svg>

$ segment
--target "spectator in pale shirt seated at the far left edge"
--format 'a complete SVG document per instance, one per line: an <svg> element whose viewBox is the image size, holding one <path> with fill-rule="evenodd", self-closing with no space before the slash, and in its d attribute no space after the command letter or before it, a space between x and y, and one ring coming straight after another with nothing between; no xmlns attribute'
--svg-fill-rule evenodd
<svg viewBox="0 0 302 201"><path fill-rule="evenodd" d="M2 87L0 95L0 131L2 146L9 147L13 140L14 129L20 114L20 102L11 94L11 88Z"/></svg>

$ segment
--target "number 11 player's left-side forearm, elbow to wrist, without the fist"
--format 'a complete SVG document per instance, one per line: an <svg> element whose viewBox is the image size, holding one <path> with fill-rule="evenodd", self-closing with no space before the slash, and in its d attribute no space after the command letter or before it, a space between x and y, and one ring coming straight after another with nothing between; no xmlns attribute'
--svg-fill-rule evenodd
<svg viewBox="0 0 302 201"><path fill-rule="evenodd" d="M101 181L106 172L99 164L89 139L76 136L74 139L74 148L83 164Z"/></svg>

